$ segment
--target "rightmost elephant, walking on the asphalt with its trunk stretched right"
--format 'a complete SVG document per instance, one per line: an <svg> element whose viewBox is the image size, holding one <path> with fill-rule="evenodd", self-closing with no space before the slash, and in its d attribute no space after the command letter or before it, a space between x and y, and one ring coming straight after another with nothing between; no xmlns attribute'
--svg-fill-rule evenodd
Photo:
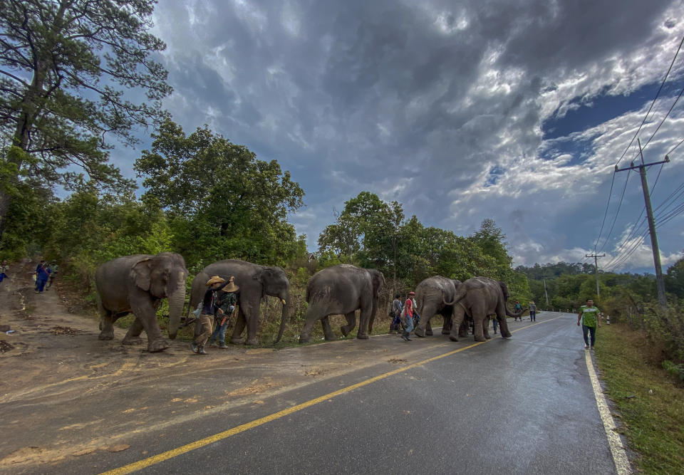
<svg viewBox="0 0 684 475"><path fill-rule="evenodd" d="M445 301L445 305L453 306L453 325L450 340L458 341L460 324L465 315L470 315L474 321L473 333L475 341L485 341L489 338L489 315L496 315L499 320L502 338L510 338L506 315L517 318L519 313L512 313L506 307L508 300L508 286L502 281L494 281L487 277L469 278L456 288L456 295L452 301Z"/></svg>

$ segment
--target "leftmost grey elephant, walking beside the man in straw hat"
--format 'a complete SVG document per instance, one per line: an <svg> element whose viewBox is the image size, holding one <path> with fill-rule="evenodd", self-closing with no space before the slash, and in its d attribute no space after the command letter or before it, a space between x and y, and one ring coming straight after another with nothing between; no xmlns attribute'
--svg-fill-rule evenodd
<svg viewBox="0 0 684 475"><path fill-rule="evenodd" d="M156 256L137 254L113 259L95 271L100 312L100 340L114 338L113 323L133 313L135 320L123 338L123 345L142 343L147 333L147 351L169 348L157 323L157 308L162 298L169 300L169 338L176 338L185 303L187 268L180 254L162 252Z"/></svg>

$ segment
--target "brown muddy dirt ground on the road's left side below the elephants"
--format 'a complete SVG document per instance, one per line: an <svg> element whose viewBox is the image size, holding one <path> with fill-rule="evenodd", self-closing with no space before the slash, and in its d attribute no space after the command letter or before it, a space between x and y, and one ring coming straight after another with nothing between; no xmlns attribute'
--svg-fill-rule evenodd
<svg viewBox="0 0 684 475"><path fill-rule="evenodd" d="M121 345L125 330L119 328L114 340L98 340L97 320L69 312L59 281L35 293L35 267L26 260L0 283L0 325L14 330L0 333L0 471L30 472L36 464L129 449L141 432L264 404L267 397L360 367L394 369L418 360L428 346L407 351L387 335L372 345L230 346L207 356L172 342L162 353L147 353L146 341ZM435 339L429 346L442 344Z"/></svg>

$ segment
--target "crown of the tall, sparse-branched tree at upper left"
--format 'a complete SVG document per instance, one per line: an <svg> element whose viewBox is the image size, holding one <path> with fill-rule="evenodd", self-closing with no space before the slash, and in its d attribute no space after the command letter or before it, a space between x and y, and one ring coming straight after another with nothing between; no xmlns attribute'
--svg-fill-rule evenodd
<svg viewBox="0 0 684 475"><path fill-rule="evenodd" d="M153 53L155 0L0 0L0 127L11 148L3 168L73 187L83 169L94 183L130 189L108 163L107 135L136 142L133 127L162 118L171 92ZM124 90L142 90L133 103ZM11 187L0 188L0 238Z"/></svg>

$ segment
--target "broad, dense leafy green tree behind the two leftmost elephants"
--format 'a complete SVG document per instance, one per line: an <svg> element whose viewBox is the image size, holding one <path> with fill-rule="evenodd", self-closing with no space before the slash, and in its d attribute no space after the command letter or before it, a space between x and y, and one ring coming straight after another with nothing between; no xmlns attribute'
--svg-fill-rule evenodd
<svg viewBox="0 0 684 475"><path fill-rule="evenodd" d="M175 249L188 265L227 256L285 263L306 253L287 214L304 191L276 160L264 162L207 127L185 135L165 120L135 169L145 177L144 199L169 211Z"/></svg>

